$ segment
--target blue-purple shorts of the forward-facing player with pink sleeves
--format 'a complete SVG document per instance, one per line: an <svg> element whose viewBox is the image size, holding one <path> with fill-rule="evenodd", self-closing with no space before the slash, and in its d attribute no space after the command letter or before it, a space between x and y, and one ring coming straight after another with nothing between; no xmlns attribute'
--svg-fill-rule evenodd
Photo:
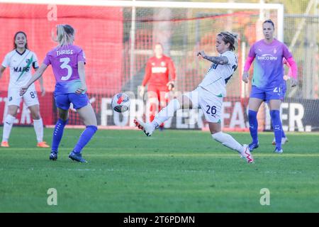
<svg viewBox="0 0 319 227"><path fill-rule="evenodd" d="M252 91L250 92L250 98L262 99L264 101L269 101L272 99L283 100L286 93L284 86L273 87L273 88L260 88L252 86Z"/></svg>

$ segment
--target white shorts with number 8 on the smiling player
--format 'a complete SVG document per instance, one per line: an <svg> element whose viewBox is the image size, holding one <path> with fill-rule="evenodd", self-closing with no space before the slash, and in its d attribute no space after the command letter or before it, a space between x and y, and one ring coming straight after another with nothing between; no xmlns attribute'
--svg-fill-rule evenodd
<svg viewBox="0 0 319 227"><path fill-rule="evenodd" d="M8 106L20 106L21 99L27 107L39 105L38 95L35 91L35 85L31 84L25 94L20 96L20 87L9 87L8 89Z"/></svg>

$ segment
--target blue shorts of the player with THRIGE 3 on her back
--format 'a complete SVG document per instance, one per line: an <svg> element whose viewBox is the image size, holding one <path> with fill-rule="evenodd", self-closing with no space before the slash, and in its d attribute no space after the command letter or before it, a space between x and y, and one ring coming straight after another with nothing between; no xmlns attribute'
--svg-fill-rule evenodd
<svg viewBox="0 0 319 227"><path fill-rule="evenodd" d="M57 108L66 111L69 109L71 103L73 104L74 109L80 109L89 104L89 98L87 97L87 94L69 93L55 95L55 104Z"/></svg>

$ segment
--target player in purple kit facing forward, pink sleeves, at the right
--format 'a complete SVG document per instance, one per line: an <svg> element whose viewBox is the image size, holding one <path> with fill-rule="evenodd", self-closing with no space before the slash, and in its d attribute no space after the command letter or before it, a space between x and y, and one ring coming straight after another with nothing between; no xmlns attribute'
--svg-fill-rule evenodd
<svg viewBox="0 0 319 227"><path fill-rule="evenodd" d="M269 102L272 127L276 140L275 153L283 153L281 148L282 126L280 119L281 100L284 99L284 66L283 58L291 66L292 78L291 86L297 84L297 66L293 60L291 52L284 43L274 38L274 23L271 20L264 21L262 24L264 39L257 41L250 48L242 80L248 82L248 70L252 61L254 63L254 75L252 78L252 91L250 93L248 118L250 122L250 151L259 147L258 143L258 121L257 111L262 101Z"/></svg>

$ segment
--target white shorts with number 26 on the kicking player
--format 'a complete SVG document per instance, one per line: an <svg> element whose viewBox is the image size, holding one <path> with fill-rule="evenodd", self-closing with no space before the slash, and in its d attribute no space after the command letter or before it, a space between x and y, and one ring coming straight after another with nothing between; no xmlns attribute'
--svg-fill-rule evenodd
<svg viewBox="0 0 319 227"><path fill-rule="evenodd" d="M192 92L184 94L192 103L193 109L201 109L206 121L211 123L220 123L220 115L223 106L223 97L216 96L206 89L197 87Z"/></svg>

